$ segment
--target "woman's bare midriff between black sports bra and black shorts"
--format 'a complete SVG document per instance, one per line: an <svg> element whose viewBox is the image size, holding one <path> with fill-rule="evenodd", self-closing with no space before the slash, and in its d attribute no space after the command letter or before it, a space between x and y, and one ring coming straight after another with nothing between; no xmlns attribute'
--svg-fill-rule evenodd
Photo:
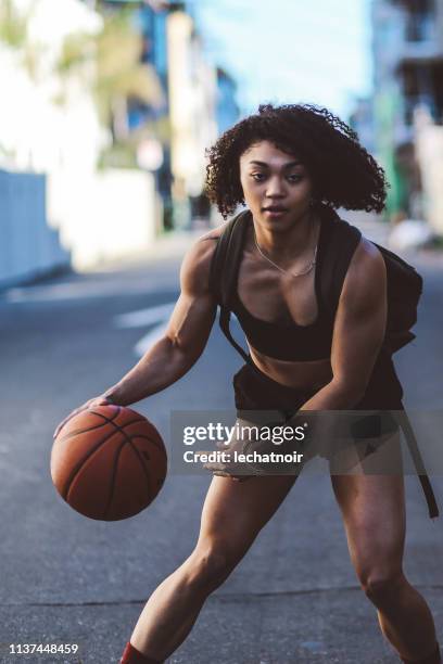
<svg viewBox="0 0 443 664"><path fill-rule="evenodd" d="M254 365L277 383L298 390L320 390L332 379L330 359L292 361L268 357L248 344Z"/></svg>

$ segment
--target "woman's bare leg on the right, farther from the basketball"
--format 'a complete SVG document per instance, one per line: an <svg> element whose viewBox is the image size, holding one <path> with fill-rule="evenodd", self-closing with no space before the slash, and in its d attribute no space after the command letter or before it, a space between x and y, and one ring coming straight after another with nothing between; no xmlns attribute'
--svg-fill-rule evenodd
<svg viewBox="0 0 443 664"><path fill-rule="evenodd" d="M392 445L397 439L393 438ZM351 560L378 611L382 633L409 661L435 651L435 628L421 595L402 569L405 541L403 475L332 475ZM435 660L438 661L438 660Z"/></svg>

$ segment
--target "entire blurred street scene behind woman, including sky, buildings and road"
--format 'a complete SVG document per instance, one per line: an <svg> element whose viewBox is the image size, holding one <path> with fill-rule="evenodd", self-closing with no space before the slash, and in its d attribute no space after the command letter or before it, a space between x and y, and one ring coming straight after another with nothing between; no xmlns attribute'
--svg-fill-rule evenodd
<svg viewBox="0 0 443 664"><path fill-rule="evenodd" d="M2 0L1 663L62 661L7 654L53 641L80 644L69 662L117 662L193 546L210 478L170 474L145 512L89 521L52 486L52 431L164 330L183 252L220 222L205 149L260 102L328 106L385 169L383 215L343 216L423 274L417 340L396 366L409 408L442 409L442 73L443 0ZM136 409L169 445L172 409L232 408L239 366L215 325L190 373ZM442 640L442 521L414 476L407 499L406 572ZM326 477L298 481L169 661L396 661Z"/></svg>

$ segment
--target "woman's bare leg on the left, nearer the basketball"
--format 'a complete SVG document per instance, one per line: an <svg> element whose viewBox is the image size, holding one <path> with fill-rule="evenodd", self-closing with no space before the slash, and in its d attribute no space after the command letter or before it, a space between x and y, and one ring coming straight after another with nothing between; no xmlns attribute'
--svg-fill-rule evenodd
<svg viewBox="0 0 443 664"><path fill-rule="evenodd" d="M153 592L130 638L163 662L185 640L207 596L229 576L280 506L295 476L214 477L191 556Z"/></svg>

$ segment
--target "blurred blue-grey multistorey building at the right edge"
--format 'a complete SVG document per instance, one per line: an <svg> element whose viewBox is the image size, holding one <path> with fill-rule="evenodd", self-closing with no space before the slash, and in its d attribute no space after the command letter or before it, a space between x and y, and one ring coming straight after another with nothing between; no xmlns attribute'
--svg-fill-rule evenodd
<svg viewBox="0 0 443 664"><path fill-rule="evenodd" d="M376 151L391 183L388 213L426 217L443 230L443 219L431 213L429 150L417 149L429 126L433 140L442 130L443 0L372 0L372 53ZM428 122L417 124L417 113Z"/></svg>

